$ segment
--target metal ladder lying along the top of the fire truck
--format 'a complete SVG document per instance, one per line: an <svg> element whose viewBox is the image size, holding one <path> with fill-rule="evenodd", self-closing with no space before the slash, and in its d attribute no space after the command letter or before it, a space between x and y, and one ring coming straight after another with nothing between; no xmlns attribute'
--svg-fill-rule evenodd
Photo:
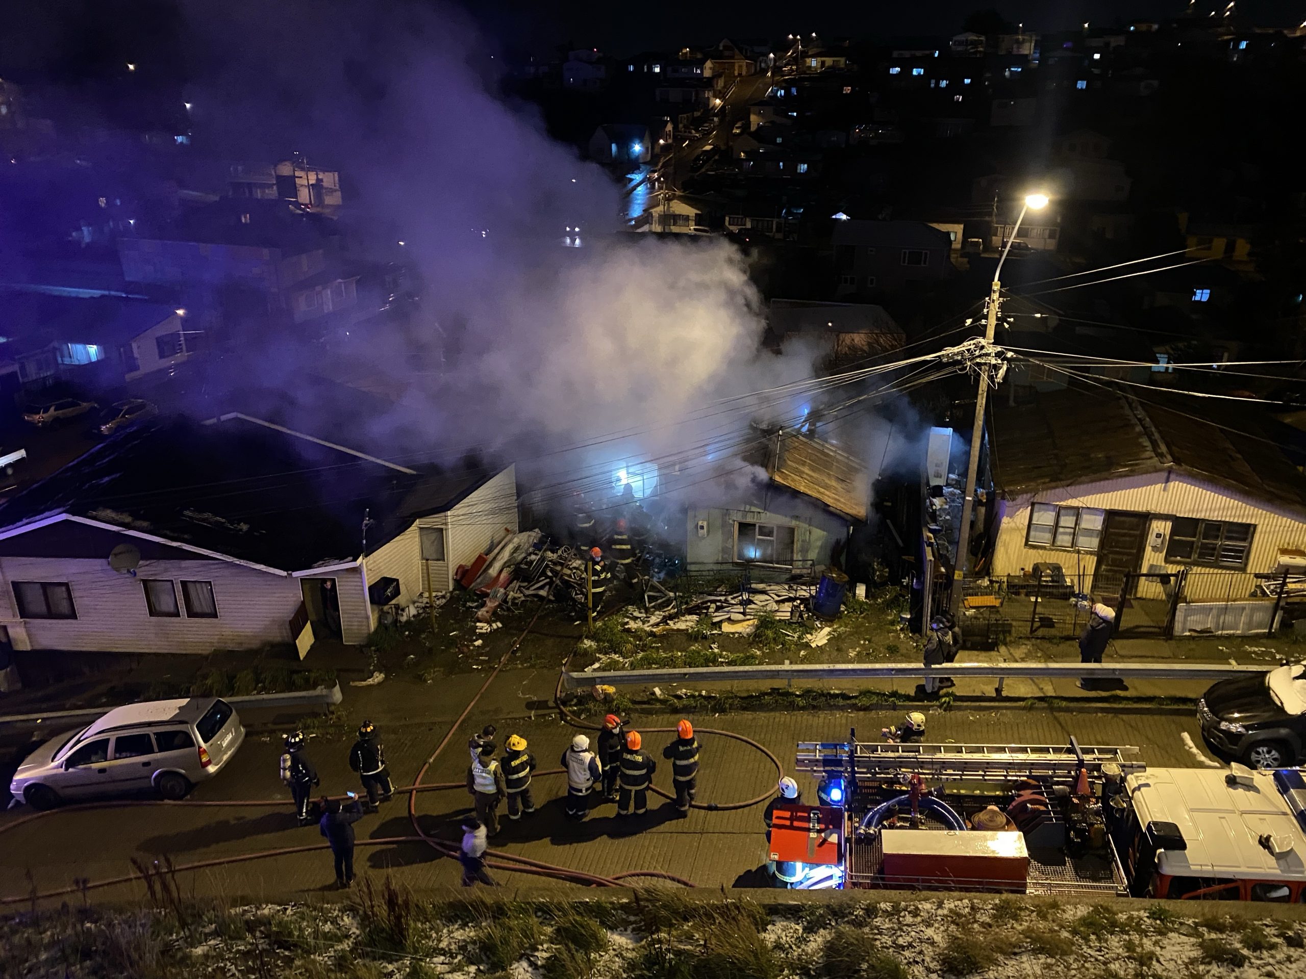
<svg viewBox="0 0 1306 979"><path fill-rule="evenodd" d="M1006 781L1019 775L1036 779L1072 781L1081 768L1101 777L1111 762L1121 771L1141 771L1134 747L1050 744L923 744L858 741L799 741L795 768L799 771L852 775L857 781L919 774L935 779L972 778Z"/></svg>

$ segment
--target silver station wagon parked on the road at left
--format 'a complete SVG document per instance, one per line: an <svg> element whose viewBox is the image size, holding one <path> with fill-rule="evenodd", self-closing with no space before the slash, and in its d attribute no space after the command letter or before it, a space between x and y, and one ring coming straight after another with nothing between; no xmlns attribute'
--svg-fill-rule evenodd
<svg viewBox="0 0 1306 979"><path fill-rule="evenodd" d="M128 704L42 744L9 791L34 809L142 788L182 799L217 775L243 741L235 709L215 697Z"/></svg>

